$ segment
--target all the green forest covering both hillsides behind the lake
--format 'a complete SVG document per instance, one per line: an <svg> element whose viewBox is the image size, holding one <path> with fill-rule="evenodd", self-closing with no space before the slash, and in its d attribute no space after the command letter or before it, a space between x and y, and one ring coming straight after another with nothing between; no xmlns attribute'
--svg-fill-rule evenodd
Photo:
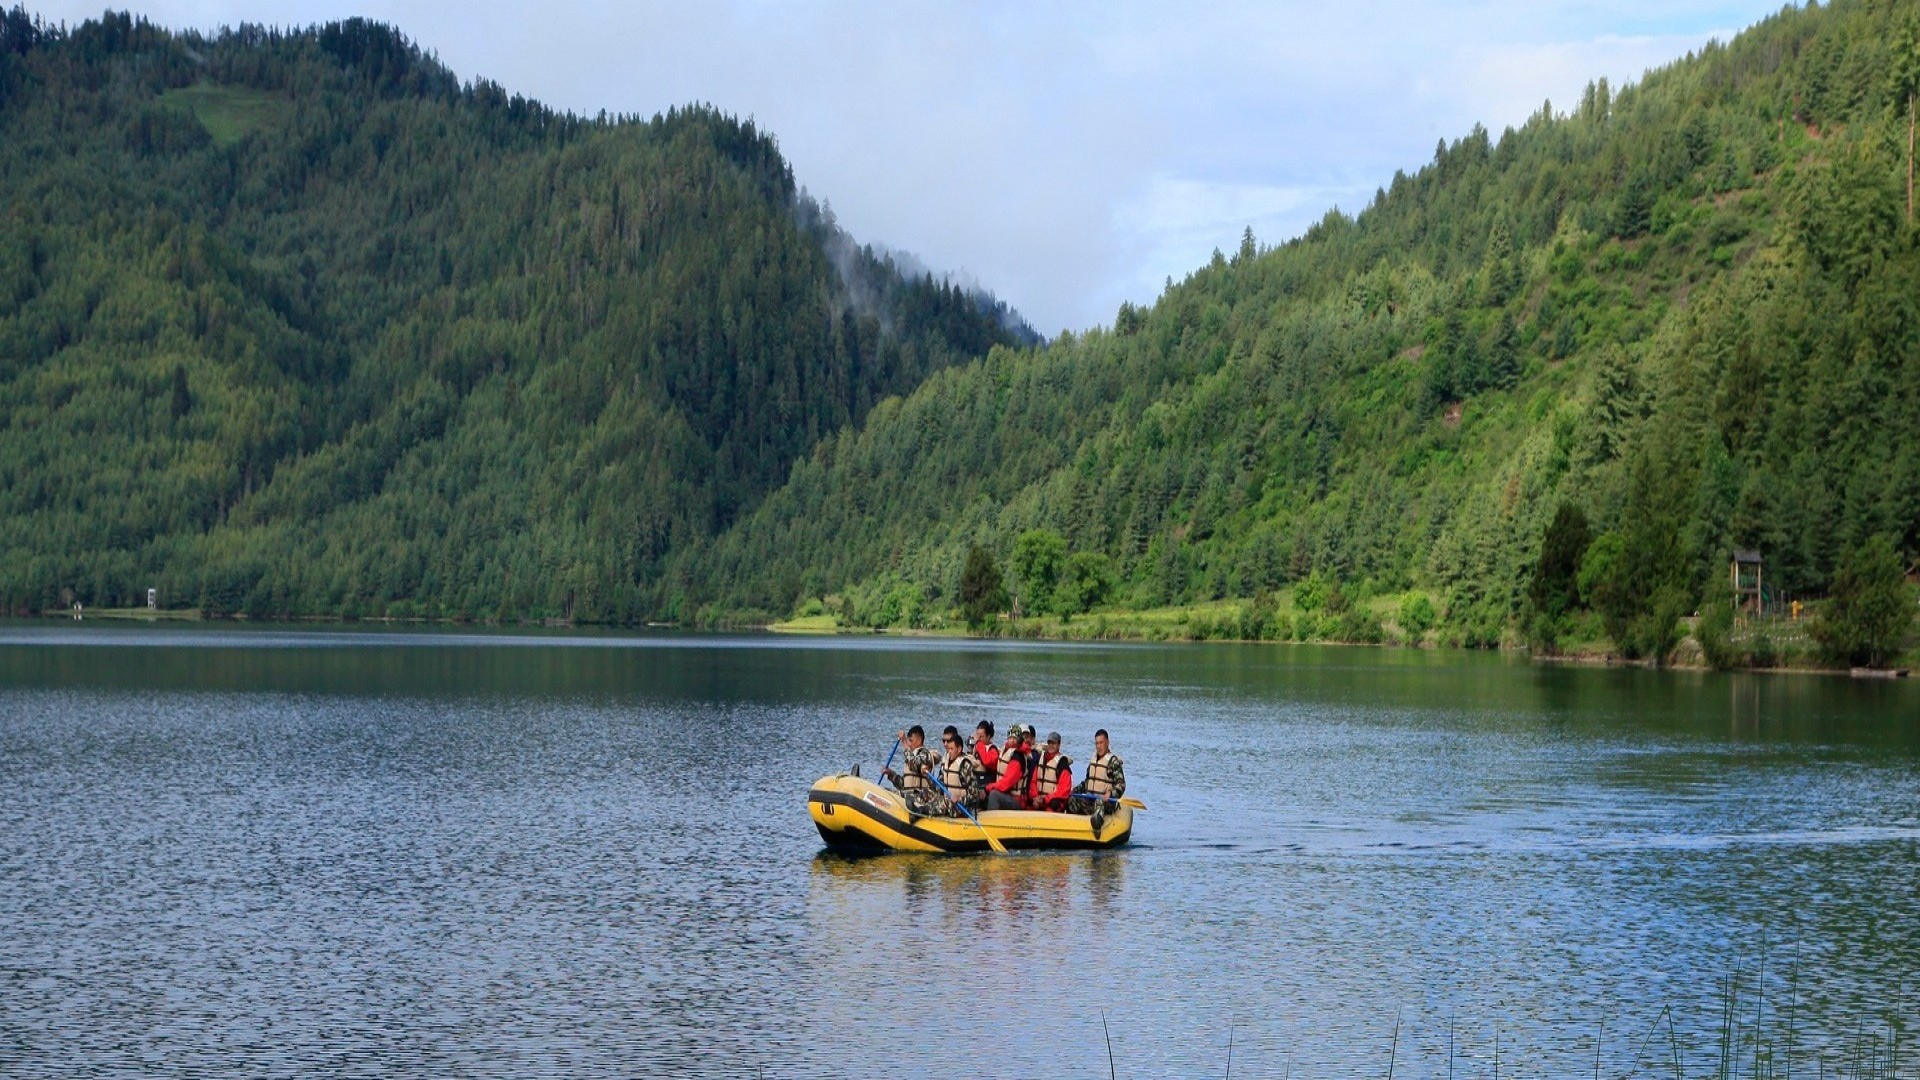
<svg viewBox="0 0 1920 1080"><path fill-rule="evenodd" d="M0 19L0 600L1628 657L1920 555L1920 15L1786 8L1041 342L766 133L399 33ZM929 208L931 211L931 208ZM1697 623L1684 619L1699 613ZM1795 623L1795 626L1803 626Z"/></svg>

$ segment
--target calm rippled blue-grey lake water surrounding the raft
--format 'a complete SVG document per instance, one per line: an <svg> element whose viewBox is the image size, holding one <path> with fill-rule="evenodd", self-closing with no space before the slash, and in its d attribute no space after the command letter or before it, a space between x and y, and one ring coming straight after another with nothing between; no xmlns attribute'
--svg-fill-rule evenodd
<svg viewBox="0 0 1920 1080"><path fill-rule="evenodd" d="M979 719L1133 846L822 853ZM0 625L0 1074L1912 1076L1916 976L1910 682Z"/></svg>

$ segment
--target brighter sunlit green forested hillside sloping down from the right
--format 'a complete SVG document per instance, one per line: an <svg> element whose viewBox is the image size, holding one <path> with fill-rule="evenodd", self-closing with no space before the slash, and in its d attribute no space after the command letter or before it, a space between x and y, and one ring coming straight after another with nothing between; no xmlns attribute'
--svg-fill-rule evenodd
<svg viewBox="0 0 1920 1080"><path fill-rule="evenodd" d="M937 373L672 573L716 609L941 621L981 546L1029 613L1425 590L1446 640L1551 648L1594 609L1634 655L1718 603L1736 548L1770 598L1897 575L1916 21L1788 8L1442 142L1357 215Z"/></svg>

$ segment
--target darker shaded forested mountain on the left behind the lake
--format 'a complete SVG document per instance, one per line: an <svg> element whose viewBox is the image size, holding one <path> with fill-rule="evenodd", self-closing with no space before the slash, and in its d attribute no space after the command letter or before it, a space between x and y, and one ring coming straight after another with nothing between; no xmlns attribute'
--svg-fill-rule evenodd
<svg viewBox="0 0 1920 1080"><path fill-rule="evenodd" d="M707 108L396 31L0 17L0 601L674 617L660 567L991 346Z"/></svg>

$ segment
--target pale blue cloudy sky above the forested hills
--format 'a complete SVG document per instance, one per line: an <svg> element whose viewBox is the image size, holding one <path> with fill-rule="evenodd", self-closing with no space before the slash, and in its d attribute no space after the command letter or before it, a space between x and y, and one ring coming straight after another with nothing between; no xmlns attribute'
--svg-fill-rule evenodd
<svg viewBox="0 0 1920 1080"><path fill-rule="evenodd" d="M123 0L125 2L125 0ZM100 0L29 4L48 21ZM586 115L753 117L860 242L1052 336L1150 304L1252 227L1361 209L1475 123L1638 81L1780 0L931 4L132 0L171 29L396 25L463 81Z"/></svg>

